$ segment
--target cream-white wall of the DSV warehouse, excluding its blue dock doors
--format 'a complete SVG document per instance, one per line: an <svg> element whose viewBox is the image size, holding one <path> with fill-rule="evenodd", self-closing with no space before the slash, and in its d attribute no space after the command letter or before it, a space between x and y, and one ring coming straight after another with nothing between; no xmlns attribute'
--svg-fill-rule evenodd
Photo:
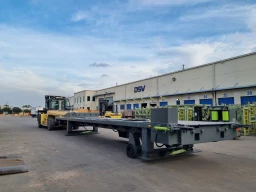
<svg viewBox="0 0 256 192"><path fill-rule="evenodd" d="M255 88L243 88L243 86L256 86L256 53L242 55L214 63L189 68L174 73L143 79L96 91L98 98L109 97L108 93L115 92L113 99L118 105L121 103L148 103L167 101L168 104L176 104L176 99L195 100L215 99L211 91L216 89L216 102L218 98L230 96L239 104L241 96L246 96L248 91L256 95ZM134 92L135 87L145 86L144 91ZM236 89L240 88L240 89ZM241 89L243 88L243 89ZM222 91L223 89L231 89ZM161 98L149 98L162 95ZM148 97L148 98L147 98ZM142 99L140 99L142 98ZM136 100L131 100L136 99ZM126 100L126 101L125 101Z"/></svg>

